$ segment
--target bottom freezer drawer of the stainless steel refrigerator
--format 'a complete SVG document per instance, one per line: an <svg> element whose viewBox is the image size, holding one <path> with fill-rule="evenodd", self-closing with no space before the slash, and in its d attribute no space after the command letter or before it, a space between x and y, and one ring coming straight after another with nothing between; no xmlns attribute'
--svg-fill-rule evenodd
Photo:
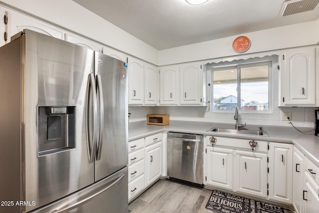
<svg viewBox="0 0 319 213"><path fill-rule="evenodd" d="M31 213L128 213L128 167Z"/></svg>

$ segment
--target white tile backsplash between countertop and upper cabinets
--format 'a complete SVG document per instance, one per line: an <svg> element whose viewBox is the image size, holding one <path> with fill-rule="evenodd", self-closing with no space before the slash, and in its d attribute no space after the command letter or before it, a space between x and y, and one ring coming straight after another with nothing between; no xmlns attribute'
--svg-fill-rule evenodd
<svg viewBox="0 0 319 213"><path fill-rule="evenodd" d="M246 114L239 112L239 123L251 125L291 126L282 120L282 114L292 113L292 123L296 127L315 127L315 109L318 107L275 107L272 114ZM146 121L148 114L169 114L170 120L235 123L234 112L212 113L204 106L130 106L129 122Z"/></svg>

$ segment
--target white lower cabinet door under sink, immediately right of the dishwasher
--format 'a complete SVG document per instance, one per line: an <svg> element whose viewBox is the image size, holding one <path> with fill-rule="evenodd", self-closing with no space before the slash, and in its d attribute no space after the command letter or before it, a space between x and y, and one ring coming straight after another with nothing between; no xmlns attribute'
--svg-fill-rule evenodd
<svg viewBox="0 0 319 213"><path fill-rule="evenodd" d="M233 190L233 150L207 147L206 184Z"/></svg>

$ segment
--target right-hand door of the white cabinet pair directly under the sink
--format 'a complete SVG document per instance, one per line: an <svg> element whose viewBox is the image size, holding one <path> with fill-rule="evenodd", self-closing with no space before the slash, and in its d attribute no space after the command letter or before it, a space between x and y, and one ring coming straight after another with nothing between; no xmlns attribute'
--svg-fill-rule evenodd
<svg viewBox="0 0 319 213"><path fill-rule="evenodd" d="M267 154L235 150L234 191L267 198Z"/></svg>

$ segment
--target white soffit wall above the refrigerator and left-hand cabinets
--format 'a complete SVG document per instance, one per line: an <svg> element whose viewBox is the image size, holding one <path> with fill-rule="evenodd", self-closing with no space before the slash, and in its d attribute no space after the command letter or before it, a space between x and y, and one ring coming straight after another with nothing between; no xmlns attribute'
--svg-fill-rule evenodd
<svg viewBox="0 0 319 213"><path fill-rule="evenodd" d="M158 64L157 49L72 0L1 0L1 2L135 57Z"/></svg>

